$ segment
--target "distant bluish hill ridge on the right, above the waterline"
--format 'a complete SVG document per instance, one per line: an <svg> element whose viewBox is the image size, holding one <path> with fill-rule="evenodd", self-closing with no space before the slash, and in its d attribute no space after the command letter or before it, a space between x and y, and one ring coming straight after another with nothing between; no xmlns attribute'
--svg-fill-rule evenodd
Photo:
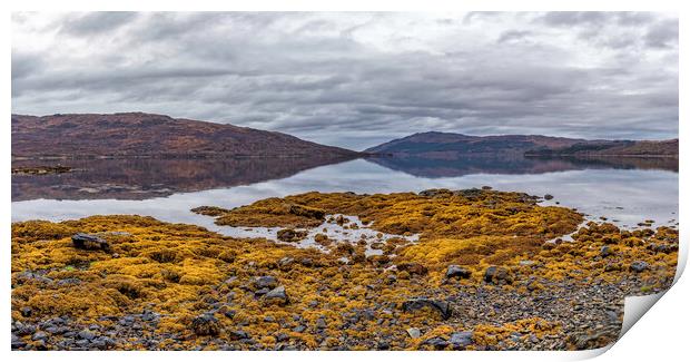
<svg viewBox="0 0 690 362"><path fill-rule="evenodd" d="M678 139L588 140L541 135L467 136L428 131L371 147L365 153L428 158L466 154L520 154L525 156L674 156Z"/></svg>

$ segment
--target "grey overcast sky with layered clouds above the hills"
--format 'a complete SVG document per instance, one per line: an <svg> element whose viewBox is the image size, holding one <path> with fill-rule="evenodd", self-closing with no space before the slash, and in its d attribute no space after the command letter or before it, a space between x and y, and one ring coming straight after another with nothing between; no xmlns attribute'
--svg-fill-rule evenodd
<svg viewBox="0 0 690 362"><path fill-rule="evenodd" d="M14 13L12 112L148 111L363 149L678 137L663 13Z"/></svg>

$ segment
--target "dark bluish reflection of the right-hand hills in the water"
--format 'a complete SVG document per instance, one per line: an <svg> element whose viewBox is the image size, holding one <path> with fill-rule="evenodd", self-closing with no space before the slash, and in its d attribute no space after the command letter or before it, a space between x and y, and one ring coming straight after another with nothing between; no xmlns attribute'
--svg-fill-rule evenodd
<svg viewBox="0 0 690 362"><path fill-rule="evenodd" d="M678 158L672 157L523 157L519 154L505 154L463 155L461 158L390 156L367 160L428 178L472 174L545 174L588 168L663 169L678 173Z"/></svg>

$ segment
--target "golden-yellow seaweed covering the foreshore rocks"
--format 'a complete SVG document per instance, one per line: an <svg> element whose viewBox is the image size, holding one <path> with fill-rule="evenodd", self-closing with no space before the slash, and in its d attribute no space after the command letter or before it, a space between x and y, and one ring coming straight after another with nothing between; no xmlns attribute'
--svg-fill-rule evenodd
<svg viewBox="0 0 690 362"><path fill-rule="evenodd" d="M424 341L447 339L459 329L474 331L471 349L490 349L515 330L564 341L572 331L564 331L563 321L540 315L469 325L456 317L443 321L434 310L405 312L401 305L411 297L443 300L480 288L529 296L564 281L585 286L625 281L632 287L625 293L643 294L668 287L676 273L678 231L628 232L598 223L578 231L583 221L579 213L542 207L520 193L308 193L210 211L219 224L234 226L308 227L326 214L356 215L384 233L420 234L420 242L390 243L394 256L366 258L356 257L362 252L356 241L322 253L140 216L14 223L12 319L70 315L82 325L108 327L112 322L103 316L152 310L160 313L160 322L140 333L165 336L161 349L428 349ZM572 243L548 243L573 232ZM111 251L78 250L70 241L76 233L98 234ZM347 263L343 255L351 256ZM635 262L647 267L634 272ZM452 264L467 268L471 276L446 280ZM504 268L511 282L486 283L484 271L491 265ZM27 277L27 272L49 282ZM288 303L267 303L260 296L254 280L266 275L285 286ZM22 315L26 307L30 315ZM218 319L218 336L193 332L191 320L201 313ZM422 327L423 334L413 339L408 327ZM252 342L234 337L236 331L248 333ZM576 348L568 342L561 346ZM136 340L116 348L146 349Z"/></svg>

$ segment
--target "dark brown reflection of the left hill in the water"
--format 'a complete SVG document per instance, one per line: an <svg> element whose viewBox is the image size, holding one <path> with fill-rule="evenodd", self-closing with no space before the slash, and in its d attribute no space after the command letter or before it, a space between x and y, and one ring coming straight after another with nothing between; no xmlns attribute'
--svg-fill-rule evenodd
<svg viewBox="0 0 690 362"><path fill-rule="evenodd" d="M284 178L302 170L346 159L236 158L236 159L78 159L22 160L12 167L60 164L71 173L41 176L12 175L12 200L146 199L175 193L248 185Z"/></svg>

